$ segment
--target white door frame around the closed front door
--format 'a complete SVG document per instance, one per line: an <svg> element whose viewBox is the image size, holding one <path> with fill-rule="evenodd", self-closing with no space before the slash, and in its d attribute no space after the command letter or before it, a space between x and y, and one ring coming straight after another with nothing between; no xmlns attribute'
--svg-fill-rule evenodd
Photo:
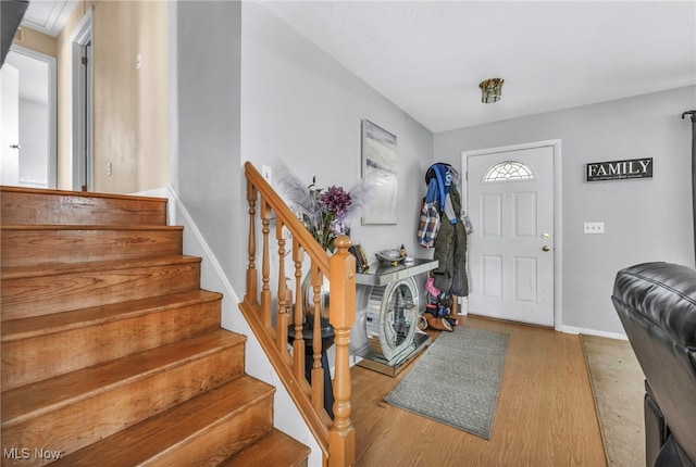
<svg viewBox="0 0 696 467"><path fill-rule="evenodd" d="M461 153L461 172L464 174L462 177L460 187L461 197L463 199L462 206L465 206L465 211L469 212L469 192L465 189L467 180L467 160L474 155L487 155L500 152L520 151L524 149L535 149L551 147L554 150L554 329L557 331L562 330L562 291L563 291L563 274L562 274L562 252L563 252L563 204L562 204L562 186L561 186L561 140L550 139L545 141L527 142L522 144L502 146L497 148L477 149L473 151L462 151ZM474 229L476 226L473 226ZM469 262L467 262L467 273L471 276L471 269L469 269ZM469 300L463 299L462 307L463 314L469 314Z"/></svg>

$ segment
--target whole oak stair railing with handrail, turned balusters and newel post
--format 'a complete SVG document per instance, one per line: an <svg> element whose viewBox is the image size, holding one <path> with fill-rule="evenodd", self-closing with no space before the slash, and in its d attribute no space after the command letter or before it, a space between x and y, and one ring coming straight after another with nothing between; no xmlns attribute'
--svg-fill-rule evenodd
<svg viewBox="0 0 696 467"><path fill-rule="evenodd" d="M296 217L283 199L273 190L250 162L245 163L247 177L247 201L249 203L249 262L247 266L247 290L239 308L247 318L261 348L276 369L290 399L298 407L310 431L322 449L324 465L347 467L355 465L355 430L350 420L350 328L356 320L356 260L348 252L350 239L339 236L334 244L336 252L330 257L304 225ZM257 205L258 204L258 205ZM258 216L257 216L258 214ZM277 292L275 295L275 327L273 327L273 292L270 282L271 224L275 223L277 243ZM257 236L257 223L261 235ZM284 229L293 237L291 263L286 267L287 241ZM257 253L261 252L261 289ZM304 352L310 349L302 338L304 315L301 298L302 263L309 257L310 274L314 290L315 326L312 341L311 386L307 381ZM286 270L294 270L295 306L286 279ZM324 371L321 358L321 333L319 326L319 290L322 277L330 280L328 320L334 329L336 361L333 379L334 419L324 409ZM291 312L291 315L288 313ZM293 337L291 352L288 351L288 327Z"/></svg>

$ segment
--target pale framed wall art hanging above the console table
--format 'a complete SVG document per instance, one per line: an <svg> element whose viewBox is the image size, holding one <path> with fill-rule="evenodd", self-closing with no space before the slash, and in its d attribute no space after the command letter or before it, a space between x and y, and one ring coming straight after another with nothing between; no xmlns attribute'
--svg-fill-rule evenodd
<svg viewBox="0 0 696 467"><path fill-rule="evenodd" d="M362 224L396 224L396 136L366 119L362 121L362 179L374 193L363 207Z"/></svg>

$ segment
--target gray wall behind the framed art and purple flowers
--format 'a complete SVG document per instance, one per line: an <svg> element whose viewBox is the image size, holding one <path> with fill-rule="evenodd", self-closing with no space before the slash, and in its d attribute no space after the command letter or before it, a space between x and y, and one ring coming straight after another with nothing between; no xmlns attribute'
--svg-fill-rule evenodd
<svg viewBox="0 0 696 467"><path fill-rule="evenodd" d="M374 252L417 250L419 200L433 135L262 7L243 3L241 156L261 169L281 157L309 185L348 189L361 177L360 122L396 135L398 224L353 224L353 243Z"/></svg>

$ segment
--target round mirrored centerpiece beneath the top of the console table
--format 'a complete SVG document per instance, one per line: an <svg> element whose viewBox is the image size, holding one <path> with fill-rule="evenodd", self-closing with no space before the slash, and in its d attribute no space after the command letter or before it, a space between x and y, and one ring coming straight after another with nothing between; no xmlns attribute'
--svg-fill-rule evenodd
<svg viewBox="0 0 696 467"><path fill-rule="evenodd" d="M390 362L409 349L418 315L418 287L412 277L373 287L366 315L372 353Z"/></svg>

